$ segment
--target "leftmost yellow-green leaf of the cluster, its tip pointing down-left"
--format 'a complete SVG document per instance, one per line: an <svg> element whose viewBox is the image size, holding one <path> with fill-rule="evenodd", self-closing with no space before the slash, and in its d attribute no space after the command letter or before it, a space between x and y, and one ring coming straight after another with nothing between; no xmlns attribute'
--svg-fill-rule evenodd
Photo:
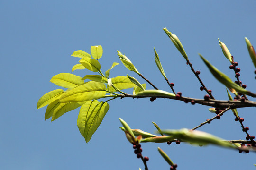
<svg viewBox="0 0 256 170"><path fill-rule="evenodd" d="M62 89L56 89L44 94L37 102L37 109L50 104L56 99L56 97L58 97L62 93L64 93Z"/></svg>

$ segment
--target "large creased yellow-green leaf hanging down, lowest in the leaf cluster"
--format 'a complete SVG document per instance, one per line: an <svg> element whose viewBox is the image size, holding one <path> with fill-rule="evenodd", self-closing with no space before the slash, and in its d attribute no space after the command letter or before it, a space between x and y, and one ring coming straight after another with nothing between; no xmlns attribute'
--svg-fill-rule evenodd
<svg viewBox="0 0 256 170"><path fill-rule="evenodd" d="M91 136L100 126L104 116L109 110L107 102L87 101L81 106L78 118L77 127L86 143L91 139Z"/></svg>

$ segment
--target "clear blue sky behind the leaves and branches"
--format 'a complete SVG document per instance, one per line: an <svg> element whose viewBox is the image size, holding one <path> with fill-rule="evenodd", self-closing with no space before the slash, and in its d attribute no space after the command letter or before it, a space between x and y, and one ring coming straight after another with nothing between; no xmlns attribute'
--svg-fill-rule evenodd
<svg viewBox="0 0 256 170"><path fill-rule="evenodd" d="M158 88L170 91L154 61L154 47L174 90L183 96L203 98L200 84L185 60L162 30L176 34L201 79L215 98L227 100L226 88L219 84L198 56L201 53L233 80L229 61L223 56L218 38L224 42L241 68L241 81L255 92L254 66L244 38L256 44L256 2L182 0L1 0L0 70L2 83L0 119L0 168L2 170L113 169L138 170L143 163L120 131L119 117L130 127L153 133L152 121L161 128L193 128L214 114L208 107L157 99L116 99L101 126L86 144L76 125L79 110L50 122L46 108L36 110L38 99L59 88L49 82L61 72L71 73L77 58L73 51L90 52L91 45L103 47L101 69L119 62L117 50L126 54L136 68ZM88 70L74 71L78 76ZM123 65L110 72L114 76L136 77ZM151 87L148 85L148 89ZM132 93L132 91L128 91ZM251 99L251 98L250 98ZM256 135L255 108L238 109L249 133ZM199 130L227 140L245 139L231 111ZM179 169L253 169L255 153L216 146L188 144L142 144L150 170L167 170L157 152L161 147ZM239 165L239 166L238 166Z"/></svg>

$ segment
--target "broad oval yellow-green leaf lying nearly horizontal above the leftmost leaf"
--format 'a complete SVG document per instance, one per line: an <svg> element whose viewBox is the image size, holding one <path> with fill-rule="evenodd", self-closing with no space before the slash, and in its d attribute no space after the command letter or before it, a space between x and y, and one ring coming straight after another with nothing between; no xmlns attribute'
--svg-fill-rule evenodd
<svg viewBox="0 0 256 170"><path fill-rule="evenodd" d="M82 77L70 73L60 73L52 77L50 82L65 88L74 88L84 84Z"/></svg>

